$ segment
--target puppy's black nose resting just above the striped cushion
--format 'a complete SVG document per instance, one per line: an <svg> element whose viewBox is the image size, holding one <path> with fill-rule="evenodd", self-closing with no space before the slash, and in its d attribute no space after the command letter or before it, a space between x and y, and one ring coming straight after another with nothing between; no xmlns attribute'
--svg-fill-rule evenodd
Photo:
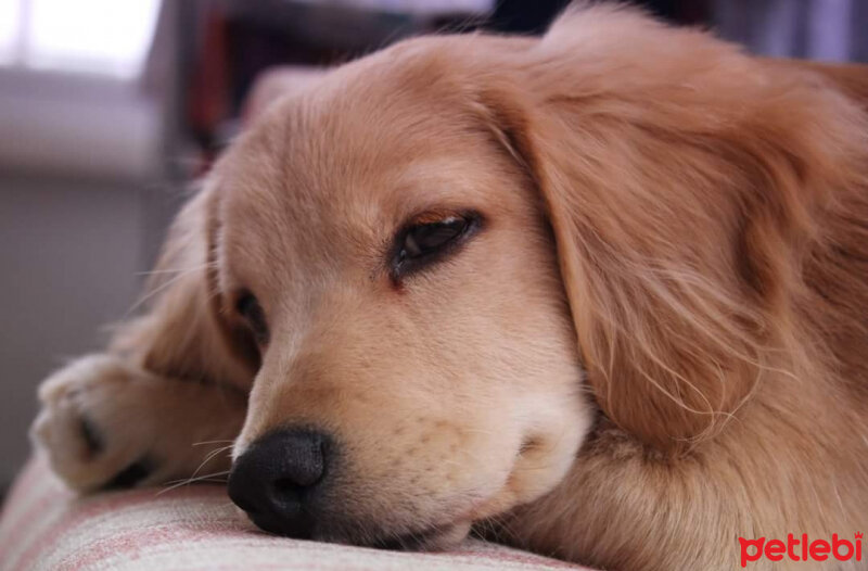
<svg viewBox="0 0 868 571"><path fill-rule="evenodd" d="M281 430L254 442L232 466L229 497L261 529L309 537L309 503L328 465L328 439L308 430Z"/></svg>

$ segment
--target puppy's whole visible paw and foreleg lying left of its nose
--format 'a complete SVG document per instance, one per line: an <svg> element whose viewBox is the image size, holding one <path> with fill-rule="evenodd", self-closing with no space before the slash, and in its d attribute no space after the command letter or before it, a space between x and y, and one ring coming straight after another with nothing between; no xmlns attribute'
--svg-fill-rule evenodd
<svg viewBox="0 0 868 571"><path fill-rule="evenodd" d="M39 388L30 435L74 490L222 478L246 394L166 379L113 355L73 361Z"/></svg>

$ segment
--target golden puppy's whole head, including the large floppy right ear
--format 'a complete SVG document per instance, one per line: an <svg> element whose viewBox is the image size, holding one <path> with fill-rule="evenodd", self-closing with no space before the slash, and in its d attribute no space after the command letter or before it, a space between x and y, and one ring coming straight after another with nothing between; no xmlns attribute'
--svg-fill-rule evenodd
<svg viewBox="0 0 868 571"><path fill-rule="evenodd" d="M779 365L800 208L845 176L816 150L857 113L797 75L597 8L403 42L271 105L179 221L207 316L166 302L221 331L188 351L208 376L255 372L237 503L443 545L556 486L597 407L666 452L714 435Z"/></svg>

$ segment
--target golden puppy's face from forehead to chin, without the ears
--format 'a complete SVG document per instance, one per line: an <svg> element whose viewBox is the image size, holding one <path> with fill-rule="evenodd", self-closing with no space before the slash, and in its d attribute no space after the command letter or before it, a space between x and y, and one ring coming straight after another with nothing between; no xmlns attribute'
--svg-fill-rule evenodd
<svg viewBox="0 0 868 571"><path fill-rule="evenodd" d="M540 199L450 62L474 43L332 72L215 174L216 291L261 358L230 490L267 529L460 537L551 488L588 430ZM304 516L251 492L264 473Z"/></svg>

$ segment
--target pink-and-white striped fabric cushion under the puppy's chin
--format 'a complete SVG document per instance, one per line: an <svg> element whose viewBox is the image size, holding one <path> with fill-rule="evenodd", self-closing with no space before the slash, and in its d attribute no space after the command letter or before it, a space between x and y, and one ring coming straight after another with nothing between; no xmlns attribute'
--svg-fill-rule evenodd
<svg viewBox="0 0 868 571"><path fill-rule="evenodd" d="M467 541L447 554L412 554L303 542L259 533L226 491L192 485L77 498L31 460L0 519L0 571L551 570L553 559Z"/></svg>

